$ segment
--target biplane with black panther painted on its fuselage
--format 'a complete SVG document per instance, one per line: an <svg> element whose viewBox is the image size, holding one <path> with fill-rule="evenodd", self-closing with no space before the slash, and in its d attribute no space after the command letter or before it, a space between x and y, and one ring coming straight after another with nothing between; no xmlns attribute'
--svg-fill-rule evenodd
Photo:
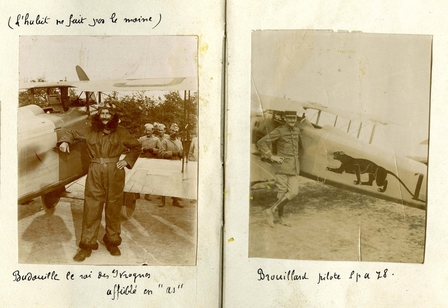
<svg viewBox="0 0 448 308"><path fill-rule="evenodd" d="M332 110L314 102L300 102L253 93L262 113L252 116L251 187L274 181L271 162L257 150L257 141L284 123L283 111L299 114L302 149L300 175L339 188L426 209L427 159L397 155L372 144L378 125L388 123L366 116ZM324 117L332 121L322 122ZM338 125L344 118L344 125ZM360 134L369 122L369 141ZM364 123L364 124L363 124ZM342 128L343 127L343 128ZM342 129L341 129L342 128ZM275 151L275 148L273 148Z"/></svg>

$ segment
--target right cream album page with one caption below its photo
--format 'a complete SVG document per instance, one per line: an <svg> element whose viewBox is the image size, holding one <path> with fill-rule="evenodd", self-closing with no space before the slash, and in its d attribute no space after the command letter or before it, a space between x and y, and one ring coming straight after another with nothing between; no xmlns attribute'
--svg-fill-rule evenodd
<svg viewBox="0 0 448 308"><path fill-rule="evenodd" d="M228 4L225 307L444 305L446 9Z"/></svg>

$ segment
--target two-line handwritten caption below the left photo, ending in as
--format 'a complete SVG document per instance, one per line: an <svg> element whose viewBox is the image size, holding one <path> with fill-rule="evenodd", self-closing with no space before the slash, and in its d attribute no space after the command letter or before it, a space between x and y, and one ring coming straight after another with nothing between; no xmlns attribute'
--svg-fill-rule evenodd
<svg viewBox="0 0 448 308"><path fill-rule="evenodd" d="M184 283L162 283L156 281L150 273L128 272L125 270L112 269L110 271L89 271L88 273L75 273L72 271L60 274L56 271L50 271L43 274L32 272L12 272L13 281L17 283L50 281L85 281L102 280L114 281L113 286L103 290L104 294L111 300L118 300L122 296L145 295L150 296L156 293L167 295L183 293L186 288ZM119 283L118 283L119 282ZM142 287L141 285L144 285ZM150 287L152 286L152 287Z"/></svg>

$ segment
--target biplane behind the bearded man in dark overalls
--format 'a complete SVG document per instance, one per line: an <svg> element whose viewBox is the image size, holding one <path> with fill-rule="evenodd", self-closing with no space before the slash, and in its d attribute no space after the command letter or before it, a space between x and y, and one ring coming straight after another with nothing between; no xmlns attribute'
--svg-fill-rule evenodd
<svg viewBox="0 0 448 308"><path fill-rule="evenodd" d="M62 153L56 148L56 142L67 130L86 131L91 116L96 113L95 104L101 103L103 93L184 91L185 104L190 99L190 91L197 91L194 77L91 81L80 66L76 66L76 72L79 81L20 85L20 90L30 91L31 97L36 89L47 89L49 107L30 104L18 111L19 203L41 196L45 207L53 208L65 192L65 185L87 174L90 160L85 144L75 143L70 153ZM79 91L80 96L85 93L85 100L78 99L74 103L69 98L70 89ZM185 167L184 159L179 162L150 160L139 158L132 171L127 172L125 192L196 199L196 162Z"/></svg>

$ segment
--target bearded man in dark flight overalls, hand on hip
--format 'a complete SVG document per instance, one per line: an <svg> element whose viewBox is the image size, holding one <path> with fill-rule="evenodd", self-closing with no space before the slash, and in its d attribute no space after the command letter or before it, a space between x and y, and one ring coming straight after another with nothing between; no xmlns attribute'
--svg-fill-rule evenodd
<svg viewBox="0 0 448 308"><path fill-rule="evenodd" d="M104 205L106 216L104 244L111 255L121 255L118 246L121 244L124 167L132 168L140 155L141 145L124 127L119 126L118 122L115 105L101 103L85 135L67 131L58 142L60 151L70 153L70 145L75 139L84 139L90 157L84 191L82 233L79 243L81 249L73 257L78 262L84 261L90 257L92 250L98 249L97 238ZM120 159L120 155L127 149L130 151Z"/></svg>

